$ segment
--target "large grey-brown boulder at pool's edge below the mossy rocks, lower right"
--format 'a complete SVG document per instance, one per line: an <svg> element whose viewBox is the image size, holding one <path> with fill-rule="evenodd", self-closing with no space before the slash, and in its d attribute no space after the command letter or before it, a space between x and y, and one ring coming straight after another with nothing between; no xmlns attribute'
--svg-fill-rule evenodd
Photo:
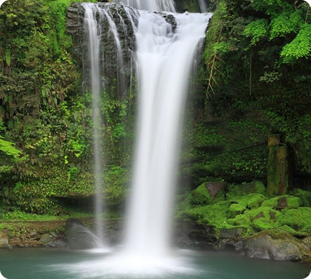
<svg viewBox="0 0 311 279"><path fill-rule="evenodd" d="M303 242L282 230L266 230L243 240L245 255L250 258L300 261L306 257Z"/></svg>

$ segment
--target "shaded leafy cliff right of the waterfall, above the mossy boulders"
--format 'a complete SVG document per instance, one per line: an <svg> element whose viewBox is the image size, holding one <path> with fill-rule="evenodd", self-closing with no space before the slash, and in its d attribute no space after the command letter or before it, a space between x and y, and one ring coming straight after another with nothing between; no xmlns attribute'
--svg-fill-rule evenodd
<svg viewBox="0 0 311 279"><path fill-rule="evenodd" d="M204 176L266 183L267 136L278 133L290 150L294 186L310 185L309 4L215 0L212 6L190 93L187 116L195 116L186 119L184 142L192 147L182 154L184 171L193 186Z"/></svg>

